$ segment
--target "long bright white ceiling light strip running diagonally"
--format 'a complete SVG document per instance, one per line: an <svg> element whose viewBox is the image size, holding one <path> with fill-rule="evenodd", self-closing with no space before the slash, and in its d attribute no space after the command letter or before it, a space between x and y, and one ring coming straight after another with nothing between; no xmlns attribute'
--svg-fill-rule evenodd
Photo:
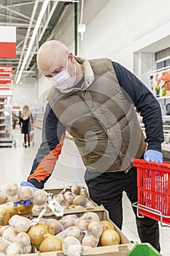
<svg viewBox="0 0 170 256"><path fill-rule="evenodd" d="M27 50L27 52L26 52L25 59L23 60L23 64L22 64L22 66L20 67L20 72L19 72L19 74L18 74L18 78L17 78L17 80L16 80L16 84L18 84L18 83L20 82L21 75L23 74L23 69L24 69L24 67L26 66L26 61L28 60L28 56L29 56L29 54L31 53L31 49L32 49L32 46L33 46L33 44L34 44L34 40L35 40L35 38L36 38L37 31L39 30L39 26L40 26L40 24L41 24L41 22L42 22L42 18L43 18L44 14L45 14L45 11L46 11L46 9L47 9L47 5L48 5L49 1L50 1L50 0L45 0L45 1L44 1L44 4L42 5L42 10L39 12L39 17L38 17L38 19L37 19L37 21L36 21L36 26L35 26L35 28L34 28L34 31L33 31L32 37L31 37L31 40L30 40L30 42L29 42L28 50Z"/></svg>

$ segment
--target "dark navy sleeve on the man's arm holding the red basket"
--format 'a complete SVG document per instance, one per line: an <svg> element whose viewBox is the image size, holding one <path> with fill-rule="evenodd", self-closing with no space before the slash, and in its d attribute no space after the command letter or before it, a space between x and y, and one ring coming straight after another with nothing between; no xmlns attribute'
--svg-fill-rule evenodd
<svg viewBox="0 0 170 256"><path fill-rule="evenodd" d="M145 141L148 143L148 149L161 151L163 121L158 100L147 89L147 86L128 69L114 61L112 61L112 65L123 93L142 116L146 132Z"/></svg>

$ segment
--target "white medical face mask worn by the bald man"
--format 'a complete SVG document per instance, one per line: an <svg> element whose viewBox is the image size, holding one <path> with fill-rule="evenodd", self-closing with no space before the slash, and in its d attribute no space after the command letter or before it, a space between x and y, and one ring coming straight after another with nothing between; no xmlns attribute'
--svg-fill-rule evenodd
<svg viewBox="0 0 170 256"><path fill-rule="evenodd" d="M72 88L76 80L76 65L74 64L74 76L71 77L67 70L68 67L68 59L66 58L66 69L63 69L57 75L53 76L53 78L48 78L52 86L55 86L59 91L64 91Z"/></svg>

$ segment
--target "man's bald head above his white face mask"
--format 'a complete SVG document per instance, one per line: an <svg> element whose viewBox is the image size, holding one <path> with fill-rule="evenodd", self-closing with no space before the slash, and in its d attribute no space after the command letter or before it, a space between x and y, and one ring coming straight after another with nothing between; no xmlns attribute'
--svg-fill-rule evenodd
<svg viewBox="0 0 170 256"><path fill-rule="evenodd" d="M36 61L42 74L50 72L53 64L61 64L69 55L69 50L62 42L51 40L45 42L38 50Z"/></svg>

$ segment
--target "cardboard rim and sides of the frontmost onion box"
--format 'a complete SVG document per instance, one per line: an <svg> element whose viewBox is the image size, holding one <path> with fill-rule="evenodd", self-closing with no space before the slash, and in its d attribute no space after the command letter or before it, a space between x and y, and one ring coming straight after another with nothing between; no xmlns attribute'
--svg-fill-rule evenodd
<svg viewBox="0 0 170 256"><path fill-rule="evenodd" d="M98 214L98 217L101 220L108 220L109 222L112 222L109 219L109 213L104 208L99 209L97 211L93 211L96 214ZM77 212L75 213L77 217L82 217L82 215L85 212ZM68 215L68 214L67 214ZM46 217L47 218L47 217ZM53 216L55 218L55 216ZM134 247L134 244L131 244L131 242L128 240L128 238L123 234L123 232L112 222L112 224L115 227L115 230L120 235L120 244L119 245L113 245L113 246L98 246L96 248L85 248L82 256L125 256L128 254L128 252ZM36 249L35 249L35 252ZM41 256L64 256L63 252L42 252Z"/></svg>

